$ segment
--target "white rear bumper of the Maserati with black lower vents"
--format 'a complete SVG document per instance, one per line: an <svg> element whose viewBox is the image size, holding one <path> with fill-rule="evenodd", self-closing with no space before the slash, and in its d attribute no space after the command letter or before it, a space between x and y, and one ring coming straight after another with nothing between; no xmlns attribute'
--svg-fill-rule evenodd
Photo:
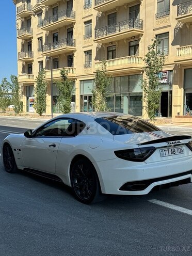
<svg viewBox="0 0 192 256"><path fill-rule="evenodd" d="M161 188L192 182L191 157L161 165L134 163L118 158L97 162L97 165L104 194L146 195L156 186Z"/></svg>

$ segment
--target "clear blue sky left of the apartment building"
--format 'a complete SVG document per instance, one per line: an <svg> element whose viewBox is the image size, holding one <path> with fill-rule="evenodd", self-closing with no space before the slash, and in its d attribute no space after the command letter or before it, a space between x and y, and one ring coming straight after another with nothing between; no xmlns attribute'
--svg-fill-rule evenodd
<svg viewBox="0 0 192 256"><path fill-rule="evenodd" d="M15 5L12 0L0 0L0 83L10 75L17 75L17 34L15 20Z"/></svg>

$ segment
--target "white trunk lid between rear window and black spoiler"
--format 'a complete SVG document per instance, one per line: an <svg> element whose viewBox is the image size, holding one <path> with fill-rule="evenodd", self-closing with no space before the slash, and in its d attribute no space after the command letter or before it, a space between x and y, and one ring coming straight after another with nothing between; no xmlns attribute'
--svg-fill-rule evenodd
<svg viewBox="0 0 192 256"><path fill-rule="evenodd" d="M141 144L148 141L174 136L164 131L115 135L114 140L127 144Z"/></svg>

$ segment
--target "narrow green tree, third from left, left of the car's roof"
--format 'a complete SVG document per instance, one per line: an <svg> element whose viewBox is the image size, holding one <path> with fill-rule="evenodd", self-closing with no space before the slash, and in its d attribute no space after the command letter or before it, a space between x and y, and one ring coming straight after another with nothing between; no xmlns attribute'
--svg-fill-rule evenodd
<svg viewBox="0 0 192 256"><path fill-rule="evenodd" d="M35 91L35 105L34 108L39 116L42 116L43 112L46 110L46 82L44 78L46 76L46 72L42 69L38 76L36 76L36 87Z"/></svg>

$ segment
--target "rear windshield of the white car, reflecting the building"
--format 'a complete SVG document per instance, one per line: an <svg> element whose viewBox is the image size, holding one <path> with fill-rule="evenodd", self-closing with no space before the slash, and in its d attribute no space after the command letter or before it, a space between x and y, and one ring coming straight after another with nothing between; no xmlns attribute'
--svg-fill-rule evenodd
<svg viewBox="0 0 192 256"><path fill-rule="evenodd" d="M161 131L153 124L134 116L102 117L95 121L113 135Z"/></svg>

